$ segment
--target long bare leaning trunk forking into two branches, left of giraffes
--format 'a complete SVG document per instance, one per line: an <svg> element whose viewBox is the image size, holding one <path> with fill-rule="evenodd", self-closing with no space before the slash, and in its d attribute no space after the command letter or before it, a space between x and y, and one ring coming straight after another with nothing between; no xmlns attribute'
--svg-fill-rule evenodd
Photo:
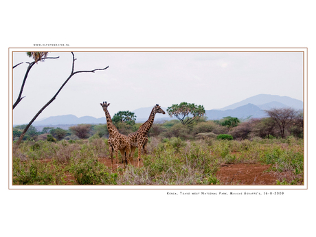
<svg viewBox="0 0 316 237"><path fill-rule="evenodd" d="M31 126L31 124L36 120L36 118L38 117L38 115L40 115L40 114L43 112L43 110L44 110L47 106L49 106L49 104L51 104L51 103L56 99L57 95L60 93L60 91L63 89L63 87L65 87L65 84L67 84L67 82L70 80L70 78L71 78L72 76L74 76L74 75L76 75L76 74L84 73L84 72L92 72L92 73L94 73L95 71L98 71L98 70L105 70L105 69L109 68L109 66L107 66L107 67L104 67L104 68L102 68L102 69L93 69L93 70L91 70L91 71L74 71L76 58L75 58L75 55L74 55L73 52L71 52L71 54L72 54L72 67L71 67L71 73L70 73L69 77L68 77L68 78L65 80L65 82L61 85L61 87L58 89L58 91L57 91L56 94L52 97L52 99L50 99L50 100L42 107L42 109L40 109L40 110L36 113L36 115L32 118L32 120L29 122L29 124L27 124L27 126L25 127L24 131L22 132L22 134L21 134L19 140L15 143L15 146L19 146L19 144L21 143L21 141L22 141L22 139L23 139L25 133L27 132L27 129L28 129L28 128Z"/></svg>

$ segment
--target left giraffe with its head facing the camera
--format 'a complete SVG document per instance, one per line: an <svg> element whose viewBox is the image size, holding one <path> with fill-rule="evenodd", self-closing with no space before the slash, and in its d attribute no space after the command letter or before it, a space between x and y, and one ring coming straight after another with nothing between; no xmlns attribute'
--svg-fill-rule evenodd
<svg viewBox="0 0 316 237"><path fill-rule="evenodd" d="M126 167L127 164L127 157L129 155L129 152L131 150L131 146L128 142L128 137L126 135L123 135L119 133L117 128L113 125L111 115L108 111L108 106L109 104L106 104L106 102L100 103L103 111L105 113L106 117L106 125L108 127L109 131L109 150L110 150L110 155L111 155L111 162L112 162L112 168L113 168L113 151L115 153L115 158L118 161L118 150L120 150L122 157L123 157L123 162L124 162L124 167Z"/></svg>

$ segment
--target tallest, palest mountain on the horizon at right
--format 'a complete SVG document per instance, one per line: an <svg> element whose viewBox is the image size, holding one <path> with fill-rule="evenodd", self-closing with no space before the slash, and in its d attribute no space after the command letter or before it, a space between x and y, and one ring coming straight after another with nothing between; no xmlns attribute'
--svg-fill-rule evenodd
<svg viewBox="0 0 316 237"><path fill-rule="evenodd" d="M224 107L222 109L218 109L218 110L225 111L227 109L236 109L240 106L243 106L243 105L249 104L249 103L260 106L260 105L268 104L271 102L275 103L275 107L277 107L277 108L280 108L280 107L278 107L280 105L278 103L281 103L281 104L284 104L285 106L289 106L293 109L303 109L303 102L301 100L296 100L296 99L293 99L289 96L260 94L260 95L252 96L250 98L247 98L245 100L231 104L229 106L226 106L226 107ZM270 104L269 106L271 106L269 109L274 107L273 104Z"/></svg>

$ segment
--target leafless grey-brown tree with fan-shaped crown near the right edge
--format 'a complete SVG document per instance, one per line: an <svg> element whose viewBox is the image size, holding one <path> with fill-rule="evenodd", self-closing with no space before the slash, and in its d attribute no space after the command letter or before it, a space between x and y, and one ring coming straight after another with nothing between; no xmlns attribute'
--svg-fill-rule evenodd
<svg viewBox="0 0 316 237"><path fill-rule="evenodd" d="M265 110L264 112L266 112L275 121L282 138L285 136L286 127L293 122L297 115L297 111L292 108L270 109Z"/></svg>

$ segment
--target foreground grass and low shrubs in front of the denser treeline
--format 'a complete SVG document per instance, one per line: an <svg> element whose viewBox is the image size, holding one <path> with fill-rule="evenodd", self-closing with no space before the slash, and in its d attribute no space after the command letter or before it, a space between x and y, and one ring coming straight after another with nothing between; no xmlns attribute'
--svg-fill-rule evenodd
<svg viewBox="0 0 316 237"><path fill-rule="evenodd" d="M13 184L63 185L68 174L80 185L218 185L216 172L234 163L269 164L270 172L280 177L278 184L302 184L303 144L293 137L253 141L151 137L143 166L112 170L98 160L109 157L106 139L23 142L13 153Z"/></svg>

